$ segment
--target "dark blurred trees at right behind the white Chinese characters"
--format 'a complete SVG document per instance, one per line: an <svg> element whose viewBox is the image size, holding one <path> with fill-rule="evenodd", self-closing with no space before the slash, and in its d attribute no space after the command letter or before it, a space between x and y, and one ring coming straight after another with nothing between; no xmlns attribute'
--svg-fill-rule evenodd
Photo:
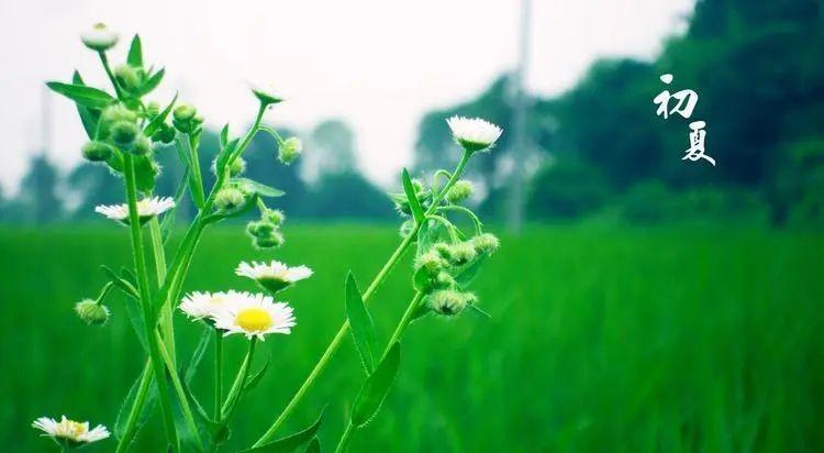
<svg viewBox="0 0 824 453"><path fill-rule="evenodd" d="M600 60L564 95L533 98L527 214L824 225L823 24L821 0L700 0L687 32L655 60ZM664 85L662 74L675 80ZM508 87L502 77L469 102L426 114L416 168L457 155L444 117L480 115L511 130ZM698 92L690 120L656 115L653 99L665 89ZM681 159L695 120L706 122L715 167ZM510 139L475 168L488 213L508 201Z"/></svg>

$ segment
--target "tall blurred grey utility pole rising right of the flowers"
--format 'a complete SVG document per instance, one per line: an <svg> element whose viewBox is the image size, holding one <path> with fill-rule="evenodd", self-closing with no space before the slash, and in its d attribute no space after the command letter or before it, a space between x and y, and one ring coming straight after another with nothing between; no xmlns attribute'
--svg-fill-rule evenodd
<svg viewBox="0 0 824 453"><path fill-rule="evenodd" d="M512 75L514 100L512 102L512 181L510 187L508 224L510 231L520 233L524 222L524 161L527 152L526 108L527 97L524 87L530 57L530 15L532 0L521 0L521 40L519 44L517 67Z"/></svg>

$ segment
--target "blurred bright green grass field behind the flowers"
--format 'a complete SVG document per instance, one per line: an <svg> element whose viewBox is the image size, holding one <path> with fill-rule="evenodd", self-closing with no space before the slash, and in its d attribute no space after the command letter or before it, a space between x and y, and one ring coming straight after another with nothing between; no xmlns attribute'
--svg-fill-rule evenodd
<svg viewBox="0 0 824 453"><path fill-rule="evenodd" d="M316 274L283 292L298 327L260 349L271 366L226 451L258 437L305 377L344 319L347 269L365 286L398 242L391 226L290 225L267 254L240 230L205 235L187 289L254 289L233 275L242 258ZM824 237L564 226L502 240L475 288L493 319L413 324L396 386L353 451L824 451ZM29 427L35 417L111 426L143 364L121 296L104 328L71 312L104 283L99 264L127 262L126 231L3 230L0 251L0 451L53 452ZM404 262L370 306L383 341L411 296ZM188 356L199 327L176 323ZM230 363L244 346L227 341ZM208 369L194 390L211 407ZM281 434L329 404L331 451L363 377L347 341ZM156 419L133 451L162 451Z"/></svg>

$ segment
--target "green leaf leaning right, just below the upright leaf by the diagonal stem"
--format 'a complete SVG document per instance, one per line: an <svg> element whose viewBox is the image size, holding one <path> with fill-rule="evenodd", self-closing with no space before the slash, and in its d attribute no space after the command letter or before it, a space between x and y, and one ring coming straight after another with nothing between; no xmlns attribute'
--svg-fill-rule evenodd
<svg viewBox="0 0 824 453"><path fill-rule="evenodd" d="M392 387L400 362L401 344L396 342L386 358L378 364L375 373L366 378L364 386L355 398L355 404L352 407L352 424L360 428L378 413L383 399Z"/></svg>

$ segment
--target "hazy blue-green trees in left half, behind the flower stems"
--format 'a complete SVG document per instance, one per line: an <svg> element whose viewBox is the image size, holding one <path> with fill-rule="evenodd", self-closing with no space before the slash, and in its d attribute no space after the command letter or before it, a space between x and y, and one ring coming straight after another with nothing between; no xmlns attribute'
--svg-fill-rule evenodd
<svg viewBox="0 0 824 453"><path fill-rule="evenodd" d="M279 131L283 136L296 135L292 130ZM248 177L287 192L270 202L272 208L282 209L290 218L303 219L393 217L392 203L383 191L358 172L355 134L345 122L326 120L307 139L310 152L289 166L277 161L277 143L266 133L258 133L244 153ZM205 130L199 153L208 187L214 183L211 163L218 151L218 132ZM174 146L157 148L156 153L162 173L155 192L174 196L185 168ZM93 220L99 218L94 207L122 202L123 190L123 181L105 166L83 163L62 176L45 154L40 153L32 158L19 195L7 199L0 192L0 220L35 224ZM193 217L191 203L181 203L178 216Z"/></svg>

